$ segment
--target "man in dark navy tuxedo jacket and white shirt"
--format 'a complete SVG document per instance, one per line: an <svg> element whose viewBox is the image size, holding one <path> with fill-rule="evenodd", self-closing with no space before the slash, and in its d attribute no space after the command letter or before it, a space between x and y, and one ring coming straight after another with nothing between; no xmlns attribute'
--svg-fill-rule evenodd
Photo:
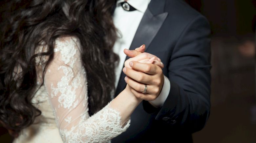
<svg viewBox="0 0 256 143"><path fill-rule="evenodd" d="M112 143L193 142L191 134L204 127L210 109L207 20L182 0L117 0L114 23L120 33L114 46L120 56L116 95L127 83L144 100L131 115L129 129ZM162 70L137 62L123 70L124 48L142 44L161 59Z"/></svg>

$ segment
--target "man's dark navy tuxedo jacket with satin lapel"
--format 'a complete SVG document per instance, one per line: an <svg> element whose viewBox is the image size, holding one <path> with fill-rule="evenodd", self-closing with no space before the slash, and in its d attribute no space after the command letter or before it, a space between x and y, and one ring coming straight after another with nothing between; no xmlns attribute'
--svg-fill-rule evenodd
<svg viewBox="0 0 256 143"><path fill-rule="evenodd" d="M115 142L192 142L210 109L210 26L182 0L151 0L130 50L142 44L158 56L171 83L161 108L143 101L131 115L128 130ZM127 57L128 59L128 57ZM122 73L118 95L126 86Z"/></svg>

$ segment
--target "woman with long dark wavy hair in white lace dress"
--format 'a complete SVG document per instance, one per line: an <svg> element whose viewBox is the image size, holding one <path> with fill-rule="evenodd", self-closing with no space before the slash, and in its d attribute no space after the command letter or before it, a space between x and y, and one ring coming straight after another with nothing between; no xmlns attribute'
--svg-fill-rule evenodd
<svg viewBox="0 0 256 143"><path fill-rule="evenodd" d="M11 0L0 36L0 120L19 142L107 142L142 99L114 100L115 0ZM151 58L151 59L150 59ZM150 59L150 60L149 60ZM161 65L140 54L128 61ZM152 61L153 60L153 61ZM127 62L128 62L127 61Z"/></svg>

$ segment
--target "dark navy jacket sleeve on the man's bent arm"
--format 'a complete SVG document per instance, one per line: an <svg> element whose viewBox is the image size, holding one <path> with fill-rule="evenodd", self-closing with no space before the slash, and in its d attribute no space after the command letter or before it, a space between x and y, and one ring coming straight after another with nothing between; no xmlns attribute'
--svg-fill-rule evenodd
<svg viewBox="0 0 256 143"><path fill-rule="evenodd" d="M210 110L210 26L202 15L187 24L169 60L171 87L161 108L143 101L146 112L191 133L201 130Z"/></svg>

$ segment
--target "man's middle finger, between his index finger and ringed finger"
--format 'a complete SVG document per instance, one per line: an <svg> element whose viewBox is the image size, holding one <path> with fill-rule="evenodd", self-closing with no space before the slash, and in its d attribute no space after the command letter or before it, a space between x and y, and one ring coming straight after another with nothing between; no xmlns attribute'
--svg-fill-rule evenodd
<svg viewBox="0 0 256 143"><path fill-rule="evenodd" d="M146 73L142 73L139 71L135 71L132 70L130 68L123 68L123 72L129 76L130 78L132 78L135 81L138 81L140 83L144 83L144 84L153 84L154 80L152 79L152 77Z"/></svg>

